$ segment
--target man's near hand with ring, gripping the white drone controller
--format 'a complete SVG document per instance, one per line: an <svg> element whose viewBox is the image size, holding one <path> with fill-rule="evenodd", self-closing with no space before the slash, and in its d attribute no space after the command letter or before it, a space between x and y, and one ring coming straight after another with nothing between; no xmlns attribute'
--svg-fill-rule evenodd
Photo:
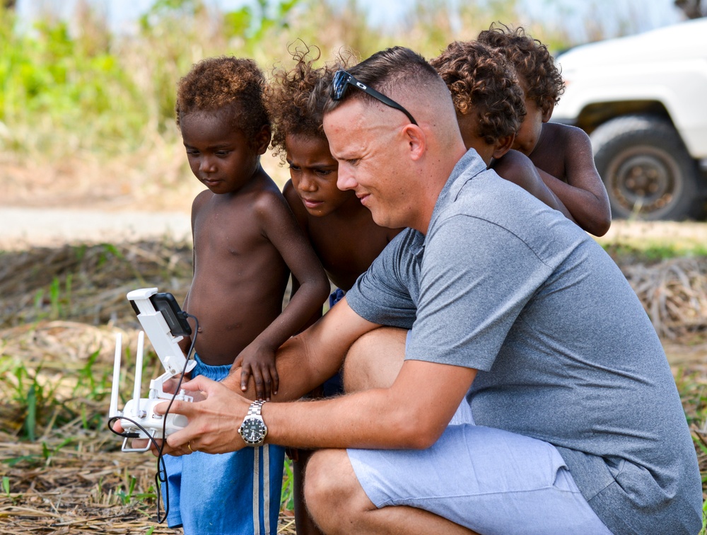
<svg viewBox="0 0 707 535"><path fill-rule="evenodd" d="M245 442L238 434L238 427L248 412L250 401L223 386L221 383L198 376L184 385L189 395L201 393L204 401L175 401L170 413L182 414L189 424L167 437L163 453L185 455L193 451L210 454L238 451ZM155 408L163 414L168 403Z"/></svg>

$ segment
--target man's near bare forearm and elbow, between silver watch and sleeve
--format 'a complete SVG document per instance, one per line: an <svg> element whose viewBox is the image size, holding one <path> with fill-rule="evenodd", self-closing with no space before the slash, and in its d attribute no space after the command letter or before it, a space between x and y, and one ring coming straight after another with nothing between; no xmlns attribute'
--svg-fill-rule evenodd
<svg viewBox="0 0 707 535"><path fill-rule="evenodd" d="M301 448L423 449L448 425L475 374L473 369L407 361L387 389L266 403L267 441Z"/></svg>

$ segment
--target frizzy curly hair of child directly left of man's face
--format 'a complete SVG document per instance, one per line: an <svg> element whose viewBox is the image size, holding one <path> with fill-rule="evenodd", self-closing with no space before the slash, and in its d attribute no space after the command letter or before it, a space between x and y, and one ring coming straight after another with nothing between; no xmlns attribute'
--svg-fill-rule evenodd
<svg viewBox="0 0 707 535"><path fill-rule="evenodd" d="M351 58L339 54L337 64L315 69L320 59L317 47L296 47L290 52L296 65L292 69L276 69L271 78L269 110L273 118L271 149L273 156L286 158L285 138L290 134L326 139L324 106L329 99L329 86L338 69L345 69Z"/></svg>

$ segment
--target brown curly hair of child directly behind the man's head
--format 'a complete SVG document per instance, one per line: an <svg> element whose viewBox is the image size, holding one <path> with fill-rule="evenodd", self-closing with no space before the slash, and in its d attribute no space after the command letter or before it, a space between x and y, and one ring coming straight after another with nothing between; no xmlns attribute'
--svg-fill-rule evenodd
<svg viewBox="0 0 707 535"><path fill-rule="evenodd" d="M523 91L500 53L477 41L455 41L430 64L452 93L457 115L477 114L486 143L518 133L526 113Z"/></svg>

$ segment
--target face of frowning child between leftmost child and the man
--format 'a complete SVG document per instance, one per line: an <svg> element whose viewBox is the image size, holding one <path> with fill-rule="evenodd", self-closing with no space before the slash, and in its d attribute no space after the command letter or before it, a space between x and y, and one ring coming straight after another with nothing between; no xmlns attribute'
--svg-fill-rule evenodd
<svg viewBox="0 0 707 535"><path fill-rule="evenodd" d="M354 196L337 188L339 163L326 139L289 134L285 146L292 185L312 216L331 214Z"/></svg>

